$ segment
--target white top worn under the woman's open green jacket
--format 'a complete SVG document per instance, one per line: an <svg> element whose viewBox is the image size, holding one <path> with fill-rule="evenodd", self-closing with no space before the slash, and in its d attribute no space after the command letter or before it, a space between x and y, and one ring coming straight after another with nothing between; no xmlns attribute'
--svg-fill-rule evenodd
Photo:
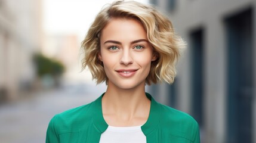
<svg viewBox="0 0 256 143"><path fill-rule="evenodd" d="M108 126L100 136L100 143L146 143L146 136L141 126L114 127Z"/></svg>

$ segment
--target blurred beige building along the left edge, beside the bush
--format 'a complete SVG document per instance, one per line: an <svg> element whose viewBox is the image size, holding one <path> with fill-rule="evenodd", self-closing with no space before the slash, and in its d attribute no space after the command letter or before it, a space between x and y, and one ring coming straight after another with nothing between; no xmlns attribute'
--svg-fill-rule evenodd
<svg viewBox="0 0 256 143"><path fill-rule="evenodd" d="M0 101L32 86L32 55L41 47L41 1L0 0Z"/></svg>

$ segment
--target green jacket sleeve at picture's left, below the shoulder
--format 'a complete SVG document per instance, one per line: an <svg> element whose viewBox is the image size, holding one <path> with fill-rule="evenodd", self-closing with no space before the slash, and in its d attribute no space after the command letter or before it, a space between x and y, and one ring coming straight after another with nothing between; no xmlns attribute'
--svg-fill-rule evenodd
<svg viewBox="0 0 256 143"><path fill-rule="evenodd" d="M59 142L58 133L55 128L55 118L56 118L56 116L54 116L53 119L51 119L51 121L48 125L46 139L45 139L46 143L58 143Z"/></svg>

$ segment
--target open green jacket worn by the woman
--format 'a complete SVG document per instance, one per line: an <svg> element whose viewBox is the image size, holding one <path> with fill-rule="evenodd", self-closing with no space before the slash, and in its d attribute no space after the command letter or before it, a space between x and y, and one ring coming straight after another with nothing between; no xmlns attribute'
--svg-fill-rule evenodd
<svg viewBox="0 0 256 143"><path fill-rule="evenodd" d="M156 102L151 95L150 114L141 126L148 143L199 143L198 123L186 113ZM94 102L57 114L47 129L47 143L99 142L107 129L101 110L101 97Z"/></svg>

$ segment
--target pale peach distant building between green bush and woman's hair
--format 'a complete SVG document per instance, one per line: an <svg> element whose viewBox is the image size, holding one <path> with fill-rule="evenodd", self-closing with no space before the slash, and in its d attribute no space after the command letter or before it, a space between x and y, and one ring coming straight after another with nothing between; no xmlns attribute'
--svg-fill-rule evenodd
<svg viewBox="0 0 256 143"><path fill-rule="evenodd" d="M80 42L78 35L72 33L45 33L42 53L55 58L65 66L63 80L78 82L81 71L81 57L79 57Z"/></svg>

